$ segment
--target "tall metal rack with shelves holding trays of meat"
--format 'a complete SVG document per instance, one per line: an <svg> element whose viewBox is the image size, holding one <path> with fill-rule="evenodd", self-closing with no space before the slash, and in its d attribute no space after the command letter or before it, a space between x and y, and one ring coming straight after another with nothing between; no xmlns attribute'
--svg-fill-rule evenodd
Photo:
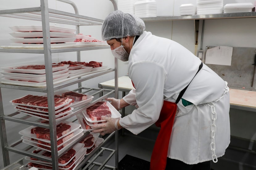
<svg viewBox="0 0 256 170"><path fill-rule="evenodd" d="M51 49L51 43L50 43L50 28L49 28L49 22L54 23L61 23L61 24L69 24L69 25L75 25L76 26L76 33L79 33L79 27L80 26L89 26L89 25L101 25L103 20L91 18L91 17L85 17L78 14L78 10L76 5L69 1L69 0L57 0L60 2L68 3L71 6L73 6L75 10L75 14L67 13L59 10L52 10L48 8L48 0L40 0L40 7L35 8L23 8L23 9L14 9L14 10L1 10L0 16L3 17L12 17L12 18L22 18L22 19L28 19L28 20L36 20L42 22L42 28L43 28L43 50L36 50L36 49L0 49L0 52L7 52L7 53L41 53L44 54L44 62L45 62L45 72L46 72L46 86L47 88L37 88L37 87L26 87L26 86L20 86L20 85L8 85L8 84L0 84L0 95L1 95L1 102L0 102L0 136L1 136L1 144L2 144L2 152L3 152L3 162L4 166L7 166L10 164L9 159L9 151L19 153L25 156L31 156L35 157L40 160L44 160L47 162L52 163L53 169L58 170L58 158L62 156L64 153L59 154L57 152L57 135L56 135L56 125L58 122L56 122L55 118L55 109L54 109L54 91L57 89L61 89L64 87L68 87L70 85L78 84L78 88L74 89L73 91L79 91L81 93L90 93L90 95L94 96L94 100L91 101L89 104L84 105L76 110L74 110L74 114L72 114L70 117L67 117L65 120L72 118L77 113L85 110L90 105L95 104L97 101L100 101L104 99L105 97L109 96L110 94L115 93L115 97L118 97L118 88L115 88L115 90L107 90L107 89L96 89L96 88L85 88L81 87L81 82L89 80L93 77L101 76L106 73L115 72L115 77L118 77L117 69L118 69L118 62L117 59L115 59L115 68L109 69L106 71L90 74L89 76L79 77L75 80L70 80L58 85L53 84L53 75L52 75L52 53L62 53L62 52L72 52L77 51L77 61L80 61L80 51L84 50L96 50L96 49L107 49L109 46L105 47L86 47L86 48L70 48L70 49ZM114 9L117 9L117 4L115 0L110 0L113 5ZM118 84L118 80L116 80L115 84ZM116 86L117 87L117 86ZM9 89L18 89L18 90L27 90L27 91L35 91L35 92L44 92L47 93L47 100L48 100L48 111L49 111L49 124L40 123L40 119L33 120L31 119L31 116L23 116L20 118L17 118L16 115L20 114L18 112L11 113L11 114L4 114L3 104L2 104L2 93L1 88L9 88ZM103 94L103 95L102 95ZM98 96L98 97L96 97ZM65 121L62 120L62 121ZM18 122L22 124L27 125L35 125L38 127L43 128L49 128L50 129L50 137L51 137L51 152L52 152L52 158L41 156L32 152L29 152L32 146L28 146L26 148L20 149L17 148L19 144L22 143L22 140L18 140L14 142L13 144L7 143L7 135L6 135L6 128L5 128L5 121L12 121L12 122ZM75 121L75 120L74 120ZM89 132L85 132L83 137L86 136ZM107 141L110 137L115 135L115 142L117 145L117 139L118 139L118 133L113 132L109 134L109 136L97 147L101 148L101 146ZM81 137L82 138L82 137ZM76 142L78 142L78 139ZM73 145L71 145L68 149L72 148L76 143L74 142ZM116 167L118 165L118 147L116 146L116 150L112 152L111 155L115 154L116 158ZM85 159L82 161L82 163L76 168L81 168L82 165L86 164L89 159L94 155L95 152L97 152L98 149L95 149L89 156L86 156ZM104 148L105 150L105 148ZM97 156L97 155L96 155ZM21 161L17 161L20 162ZM106 164L106 162L105 162ZM101 167L105 167L106 165L102 164ZM110 166L108 166L110 167ZM111 167L112 169L115 169L115 167Z"/></svg>

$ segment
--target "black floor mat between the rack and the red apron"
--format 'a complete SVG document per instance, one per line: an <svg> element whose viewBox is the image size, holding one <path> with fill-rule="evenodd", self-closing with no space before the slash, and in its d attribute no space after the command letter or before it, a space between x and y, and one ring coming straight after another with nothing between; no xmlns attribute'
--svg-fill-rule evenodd
<svg viewBox="0 0 256 170"><path fill-rule="evenodd" d="M118 163L119 170L149 170L150 162L126 155Z"/></svg>

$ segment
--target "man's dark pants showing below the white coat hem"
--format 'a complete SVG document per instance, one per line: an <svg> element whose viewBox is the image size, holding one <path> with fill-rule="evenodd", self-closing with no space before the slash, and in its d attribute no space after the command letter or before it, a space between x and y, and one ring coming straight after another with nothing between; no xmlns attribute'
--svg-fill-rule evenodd
<svg viewBox="0 0 256 170"><path fill-rule="evenodd" d="M211 161L201 162L198 164L185 164L180 160L167 158L165 170L210 170Z"/></svg>

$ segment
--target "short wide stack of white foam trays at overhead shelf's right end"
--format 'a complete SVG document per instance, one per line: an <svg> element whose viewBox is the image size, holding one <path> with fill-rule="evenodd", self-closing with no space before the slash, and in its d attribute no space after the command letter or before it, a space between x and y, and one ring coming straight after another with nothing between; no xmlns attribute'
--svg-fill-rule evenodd
<svg viewBox="0 0 256 170"><path fill-rule="evenodd" d="M224 13L252 12L252 3L232 3L224 6Z"/></svg>

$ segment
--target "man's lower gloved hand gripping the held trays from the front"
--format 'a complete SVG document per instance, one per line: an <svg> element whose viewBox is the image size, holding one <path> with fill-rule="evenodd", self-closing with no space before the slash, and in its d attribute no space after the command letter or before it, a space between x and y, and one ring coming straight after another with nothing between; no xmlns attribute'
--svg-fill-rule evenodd
<svg viewBox="0 0 256 170"><path fill-rule="evenodd" d="M115 119L112 117L101 116L101 120L104 120L107 122L99 125L94 125L93 128L95 128L95 130L92 130L93 133L100 133L102 136L104 136L107 133L111 133L111 132L114 132L115 130L119 130L118 124L117 124L119 121L119 118Z"/></svg>

